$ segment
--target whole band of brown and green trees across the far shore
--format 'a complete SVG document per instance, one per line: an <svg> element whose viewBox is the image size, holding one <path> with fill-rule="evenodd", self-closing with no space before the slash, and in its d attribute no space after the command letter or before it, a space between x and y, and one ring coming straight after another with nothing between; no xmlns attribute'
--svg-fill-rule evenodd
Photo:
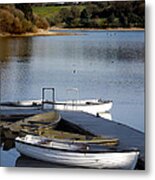
<svg viewBox="0 0 155 180"><path fill-rule="evenodd" d="M39 16L34 6L61 6L51 16ZM64 28L132 28L145 26L145 1L103 1L0 5L0 32L20 34L49 26Z"/></svg>

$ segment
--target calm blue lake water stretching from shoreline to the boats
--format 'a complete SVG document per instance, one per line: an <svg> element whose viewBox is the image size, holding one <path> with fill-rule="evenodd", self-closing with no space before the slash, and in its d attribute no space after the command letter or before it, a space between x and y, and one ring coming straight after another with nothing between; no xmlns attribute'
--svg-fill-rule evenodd
<svg viewBox="0 0 155 180"><path fill-rule="evenodd" d="M1 101L40 99L42 87L77 98L66 91L74 87L80 98L113 100L112 119L144 132L144 32L76 33L0 38Z"/></svg>

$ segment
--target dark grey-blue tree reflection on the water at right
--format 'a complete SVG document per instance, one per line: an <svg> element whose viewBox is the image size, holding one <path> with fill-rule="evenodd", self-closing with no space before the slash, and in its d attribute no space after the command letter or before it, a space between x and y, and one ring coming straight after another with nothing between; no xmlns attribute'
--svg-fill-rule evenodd
<svg viewBox="0 0 155 180"><path fill-rule="evenodd" d="M96 47L95 47L96 46ZM144 61L144 43L142 42L118 42L109 40L98 45L85 46L83 51L84 59L92 62L111 60L117 61Z"/></svg>

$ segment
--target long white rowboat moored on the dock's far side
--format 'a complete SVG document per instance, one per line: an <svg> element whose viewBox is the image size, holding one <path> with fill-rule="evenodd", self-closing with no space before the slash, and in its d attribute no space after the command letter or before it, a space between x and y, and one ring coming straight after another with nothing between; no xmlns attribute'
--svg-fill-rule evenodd
<svg viewBox="0 0 155 180"><path fill-rule="evenodd" d="M17 102L0 103L1 109L41 109L43 104L51 104L55 110L62 111L83 111L89 114L98 115L103 112L109 112L113 102L110 100L87 99L87 100L68 100L68 101L42 101L25 100Z"/></svg>

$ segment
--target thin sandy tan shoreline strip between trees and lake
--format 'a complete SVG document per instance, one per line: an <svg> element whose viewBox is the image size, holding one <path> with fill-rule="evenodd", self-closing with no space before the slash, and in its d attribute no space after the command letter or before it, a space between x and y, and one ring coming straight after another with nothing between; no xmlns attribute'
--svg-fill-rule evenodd
<svg viewBox="0 0 155 180"><path fill-rule="evenodd" d="M62 30L72 30L72 31L145 31L144 28L59 28L59 27L50 27L47 30L38 29L37 32L23 33L23 34L10 34L10 33L0 33L0 37L35 37L35 36L75 36L79 35L74 32L53 32L53 31L62 31Z"/></svg>

